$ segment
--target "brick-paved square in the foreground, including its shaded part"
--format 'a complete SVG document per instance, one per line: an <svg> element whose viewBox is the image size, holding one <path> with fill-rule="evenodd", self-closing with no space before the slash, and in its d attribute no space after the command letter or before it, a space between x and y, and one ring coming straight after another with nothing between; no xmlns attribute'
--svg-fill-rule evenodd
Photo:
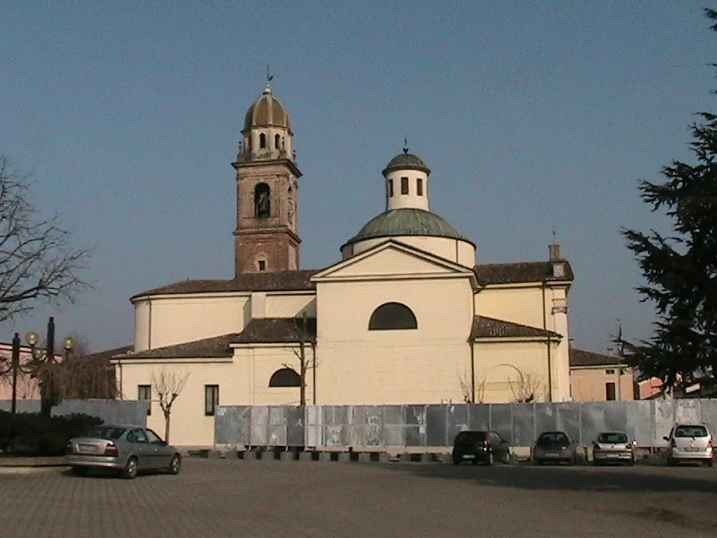
<svg viewBox="0 0 717 538"><path fill-rule="evenodd" d="M188 459L179 476L0 486L1 538L717 536L717 468Z"/></svg>

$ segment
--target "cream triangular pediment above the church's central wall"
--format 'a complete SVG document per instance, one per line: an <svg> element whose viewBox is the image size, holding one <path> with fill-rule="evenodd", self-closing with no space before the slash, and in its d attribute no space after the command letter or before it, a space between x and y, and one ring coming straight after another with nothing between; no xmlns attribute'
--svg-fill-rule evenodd
<svg viewBox="0 0 717 538"><path fill-rule="evenodd" d="M375 278L441 278L468 276L473 270L440 256L388 240L365 252L320 270L312 282Z"/></svg>

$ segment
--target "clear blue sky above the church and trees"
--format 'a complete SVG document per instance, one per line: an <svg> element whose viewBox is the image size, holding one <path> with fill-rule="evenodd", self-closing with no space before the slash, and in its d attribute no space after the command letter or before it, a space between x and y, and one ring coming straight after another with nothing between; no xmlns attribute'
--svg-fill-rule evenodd
<svg viewBox="0 0 717 538"><path fill-rule="evenodd" d="M604 351L652 306L619 227L664 229L637 182L691 159L715 111L717 35L701 1L4 2L0 154L35 202L95 245L76 305L6 323L130 344L138 291L231 278L237 151L266 64L303 171L303 268L383 210L381 169L432 169L432 210L481 263L545 260L556 228L576 279L571 332Z"/></svg>

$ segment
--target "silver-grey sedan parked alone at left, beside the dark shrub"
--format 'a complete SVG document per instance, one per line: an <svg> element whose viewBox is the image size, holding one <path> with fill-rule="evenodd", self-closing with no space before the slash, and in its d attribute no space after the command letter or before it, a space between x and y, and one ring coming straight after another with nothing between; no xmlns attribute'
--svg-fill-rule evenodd
<svg viewBox="0 0 717 538"><path fill-rule="evenodd" d="M70 439L66 457L75 476L85 476L89 468L105 468L131 479L139 471L177 474L181 467L179 450L152 430L137 426L95 426L85 437Z"/></svg>

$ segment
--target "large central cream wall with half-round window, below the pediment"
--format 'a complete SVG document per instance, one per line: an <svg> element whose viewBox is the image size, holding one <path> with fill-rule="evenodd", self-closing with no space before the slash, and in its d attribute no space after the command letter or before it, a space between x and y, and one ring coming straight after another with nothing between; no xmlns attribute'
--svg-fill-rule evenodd
<svg viewBox="0 0 717 538"><path fill-rule="evenodd" d="M319 405L462 401L469 278L319 282L317 296ZM389 301L411 308L418 329L369 331L371 313Z"/></svg>

